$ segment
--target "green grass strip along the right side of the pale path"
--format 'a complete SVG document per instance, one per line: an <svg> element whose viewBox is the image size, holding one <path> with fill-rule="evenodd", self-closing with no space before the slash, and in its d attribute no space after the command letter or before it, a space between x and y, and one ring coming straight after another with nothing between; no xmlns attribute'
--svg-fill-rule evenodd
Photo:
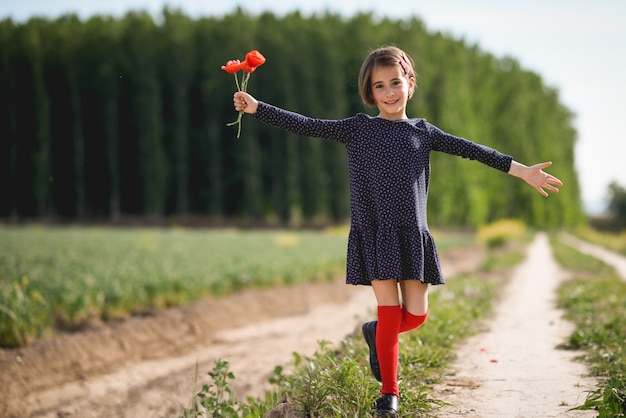
<svg viewBox="0 0 626 418"><path fill-rule="evenodd" d="M555 258L575 277L558 290L559 307L576 330L565 348L583 350L598 386L577 409L594 409L599 417L626 414L626 282L604 262L551 238Z"/></svg>

